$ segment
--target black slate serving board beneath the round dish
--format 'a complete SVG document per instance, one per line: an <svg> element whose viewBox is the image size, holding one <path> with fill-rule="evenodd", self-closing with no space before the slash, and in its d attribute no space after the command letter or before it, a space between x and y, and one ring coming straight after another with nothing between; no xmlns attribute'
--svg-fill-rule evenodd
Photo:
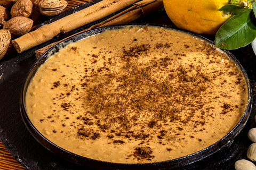
<svg viewBox="0 0 256 170"><path fill-rule="evenodd" d="M70 10L61 13L55 18L42 24L57 20L63 16L74 13L99 1L101 0L78 5L77 7L71 8ZM108 17L110 16L107 16L107 18ZM161 8L145 16L144 18L140 18L134 21L134 23L135 22L156 23L174 26L166 15L164 8ZM92 24L95 24L95 22ZM73 35L74 33L82 31L83 29L89 28L92 24L85 25L82 28L78 28L65 35L62 35L61 37L54 38L53 40L47 41L46 43L21 54L18 54L14 49L12 49L9 54L0 61L0 140L3 142L4 146L9 150L12 156L28 169L90 169L62 159L41 146L29 133L22 121L19 108L19 98L24 78L26 77L30 67L36 61L36 57L34 55L35 50ZM214 37L206 38L214 40ZM249 45L238 50L233 50L231 53L233 53L233 55L235 55L238 61L243 65L251 81L252 89L254 89L253 84L256 82L256 78L254 77L254 74L256 73L256 57L251 46ZM253 94L255 94L254 91ZM175 168L175 170L231 170L235 169L234 164L236 160L247 159L246 151L252 143L247 138L247 132L256 126L254 121L254 116L256 113L255 102L255 99L253 99L252 113L245 128L233 141L229 143L228 146L211 155L210 157L181 168ZM122 169L122 167L120 167L120 169ZM170 169L172 169L172 167L170 167Z"/></svg>

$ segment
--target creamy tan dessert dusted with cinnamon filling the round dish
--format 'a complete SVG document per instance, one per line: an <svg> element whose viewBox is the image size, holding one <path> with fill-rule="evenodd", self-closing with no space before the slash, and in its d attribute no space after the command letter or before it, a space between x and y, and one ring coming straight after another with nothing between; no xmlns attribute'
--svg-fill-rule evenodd
<svg viewBox="0 0 256 170"><path fill-rule="evenodd" d="M188 33L127 26L71 43L39 67L26 94L35 128L75 154L151 163L202 150L245 112L242 72Z"/></svg>

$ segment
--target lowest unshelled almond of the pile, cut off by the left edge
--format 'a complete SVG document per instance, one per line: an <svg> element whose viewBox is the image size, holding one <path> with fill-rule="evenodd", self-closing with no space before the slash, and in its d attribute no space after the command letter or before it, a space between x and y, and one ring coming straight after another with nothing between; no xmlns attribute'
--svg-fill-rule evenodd
<svg viewBox="0 0 256 170"><path fill-rule="evenodd" d="M0 60L7 52L11 41L11 33L8 30L0 30Z"/></svg>

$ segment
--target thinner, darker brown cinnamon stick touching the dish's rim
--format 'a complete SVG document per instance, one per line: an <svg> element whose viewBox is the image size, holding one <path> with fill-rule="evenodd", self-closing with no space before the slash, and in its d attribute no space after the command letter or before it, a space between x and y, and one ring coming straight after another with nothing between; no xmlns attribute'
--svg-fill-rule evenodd
<svg viewBox="0 0 256 170"><path fill-rule="evenodd" d="M128 8L127 10L125 10L121 13L118 13L105 21L102 21L98 24L92 25L92 27L90 27L88 29L77 32L74 35L77 35L79 33L82 33L82 32L85 32L87 30L91 30L94 28L105 27L105 26L113 25L113 24L129 23L129 22L131 22L135 19L138 19L141 16L145 16L161 7L163 7L163 0L143 0L138 3L134 3L133 6ZM74 35L72 35L72 36L74 36ZM67 38L70 38L72 36L69 36ZM65 40L67 38L64 38L60 41L57 41L55 43L52 43L52 44L47 45L41 49L36 50L36 52L35 52L36 58L38 59L45 52L47 52L47 50L49 50L54 45L60 43L61 41Z"/></svg>

